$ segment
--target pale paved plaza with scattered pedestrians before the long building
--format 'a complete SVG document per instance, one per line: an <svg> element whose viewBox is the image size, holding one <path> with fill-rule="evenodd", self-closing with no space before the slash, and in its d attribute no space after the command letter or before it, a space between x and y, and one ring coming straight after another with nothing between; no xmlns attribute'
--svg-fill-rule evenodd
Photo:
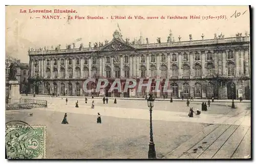
<svg viewBox="0 0 256 164"><path fill-rule="evenodd" d="M46 125L47 158L147 158L150 115L146 100L32 97L47 100L47 108L6 111L6 122ZM78 100L79 107L75 107ZM206 102L207 100L203 100ZM201 111L201 100L189 107ZM189 118L186 101L155 101L153 133L157 158L249 158L250 103L213 102L199 117ZM33 117L29 114L33 113ZM61 124L67 113L69 124ZM97 113L102 124L96 123Z"/></svg>

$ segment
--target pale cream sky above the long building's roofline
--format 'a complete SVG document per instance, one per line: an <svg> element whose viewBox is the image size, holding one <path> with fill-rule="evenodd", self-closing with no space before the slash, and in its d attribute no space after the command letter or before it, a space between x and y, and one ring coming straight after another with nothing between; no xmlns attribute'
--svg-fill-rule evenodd
<svg viewBox="0 0 256 164"><path fill-rule="evenodd" d="M31 10L75 10L77 13L28 13ZM20 12L20 10L25 12ZM225 37L235 37L236 34L250 33L250 19L248 6L6 6L6 56L20 59L28 63L28 49L39 47L55 47L71 44L76 39L79 47L83 43L88 47L89 42L103 42L113 39L113 33L118 30L119 24L123 39L148 38L150 43L166 42L169 30L178 41L213 39L214 34ZM42 16L60 16L61 19L42 19ZM101 16L104 19L72 19L67 16ZM145 19L135 19L134 16L143 16ZM200 16L200 19L166 19L167 16ZM224 15L226 19L202 19L202 17L218 17ZM111 19L111 16L126 16L126 19ZM127 19L132 16L133 19ZM159 19L146 19L147 16ZM164 16L165 19L160 19ZM232 16L232 17L231 17ZM39 18L35 18L39 17ZM64 18L65 17L65 18ZM109 18L106 18L109 17ZM33 19L32 19L33 18Z"/></svg>

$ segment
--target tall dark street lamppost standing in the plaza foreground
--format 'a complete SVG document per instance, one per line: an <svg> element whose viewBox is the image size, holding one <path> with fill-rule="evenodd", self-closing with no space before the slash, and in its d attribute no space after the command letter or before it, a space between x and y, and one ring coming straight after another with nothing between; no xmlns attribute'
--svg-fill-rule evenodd
<svg viewBox="0 0 256 164"><path fill-rule="evenodd" d="M150 108L150 145L148 150L148 159L156 158L155 144L153 141L153 128L152 128L152 108L154 107L153 94L150 93L147 99L147 106Z"/></svg>

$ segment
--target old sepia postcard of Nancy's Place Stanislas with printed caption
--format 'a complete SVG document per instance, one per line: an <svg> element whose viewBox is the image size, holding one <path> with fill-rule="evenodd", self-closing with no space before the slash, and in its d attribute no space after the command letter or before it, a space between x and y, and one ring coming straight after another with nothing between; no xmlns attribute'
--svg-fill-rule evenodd
<svg viewBox="0 0 256 164"><path fill-rule="evenodd" d="M249 6L6 6L8 159L251 158Z"/></svg>

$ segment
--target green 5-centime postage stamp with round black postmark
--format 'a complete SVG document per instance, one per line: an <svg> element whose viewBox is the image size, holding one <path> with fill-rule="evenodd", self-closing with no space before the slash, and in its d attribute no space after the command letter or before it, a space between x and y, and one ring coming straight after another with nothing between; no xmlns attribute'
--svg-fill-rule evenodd
<svg viewBox="0 0 256 164"><path fill-rule="evenodd" d="M46 126L7 122L5 147L8 159L46 158Z"/></svg>

